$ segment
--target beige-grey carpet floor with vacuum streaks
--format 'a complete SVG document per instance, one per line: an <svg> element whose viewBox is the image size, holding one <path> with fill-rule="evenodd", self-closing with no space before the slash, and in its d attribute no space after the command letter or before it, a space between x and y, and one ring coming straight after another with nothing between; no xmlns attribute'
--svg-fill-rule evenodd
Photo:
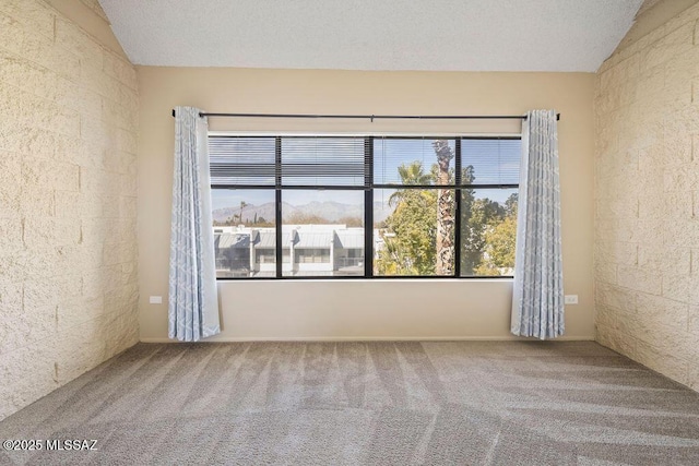
<svg viewBox="0 0 699 466"><path fill-rule="evenodd" d="M3 465L696 466L699 394L592 342L139 344L7 439L54 442Z"/></svg>

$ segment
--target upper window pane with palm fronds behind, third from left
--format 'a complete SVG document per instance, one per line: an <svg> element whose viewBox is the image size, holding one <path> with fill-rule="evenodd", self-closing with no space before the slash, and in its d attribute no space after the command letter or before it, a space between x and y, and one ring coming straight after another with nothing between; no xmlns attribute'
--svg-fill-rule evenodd
<svg viewBox="0 0 699 466"><path fill-rule="evenodd" d="M437 143L440 141L440 143ZM436 184L437 145L446 142L452 158L449 160L450 183L453 183L455 140L423 138L375 138L375 184Z"/></svg>

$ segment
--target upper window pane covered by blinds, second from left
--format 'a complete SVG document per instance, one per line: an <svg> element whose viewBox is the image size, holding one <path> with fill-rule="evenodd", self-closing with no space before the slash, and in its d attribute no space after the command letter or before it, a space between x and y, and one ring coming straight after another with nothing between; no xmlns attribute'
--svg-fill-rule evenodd
<svg viewBox="0 0 699 466"><path fill-rule="evenodd" d="M283 187L364 187L364 138L282 138Z"/></svg>

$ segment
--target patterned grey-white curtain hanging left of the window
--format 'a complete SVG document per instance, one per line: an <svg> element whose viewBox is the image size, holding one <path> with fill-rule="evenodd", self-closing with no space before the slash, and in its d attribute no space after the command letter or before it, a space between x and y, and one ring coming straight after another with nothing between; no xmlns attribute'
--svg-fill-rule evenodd
<svg viewBox="0 0 699 466"><path fill-rule="evenodd" d="M170 338L197 342L221 332L209 182L208 128L200 110L175 108L170 230Z"/></svg>

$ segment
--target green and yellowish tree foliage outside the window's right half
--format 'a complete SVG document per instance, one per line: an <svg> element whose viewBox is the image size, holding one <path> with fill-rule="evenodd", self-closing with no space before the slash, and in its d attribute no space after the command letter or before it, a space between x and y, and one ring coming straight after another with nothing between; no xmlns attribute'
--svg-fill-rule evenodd
<svg viewBox="0 0 699 466"><path fill-rule="evenodd" d="M440 148L435 150L437 152ZM442 165L435 164L430 172L425 174L423 165L414 162L401 165L399 175L406 186L430 184L437 180L439 184L452 183L453 169L447 164ZM473 184L474 181L474 168L469 165L461 171L461 182ZM449 199L445 191L453 193L451 190L401 189L391 195L389 204L394 205L395 210L379 227L384 247L376 260L377 274L453 273L453 268L448 266L448 251L445 253L449 248L445 235L453 238L453 232L449 236L449 222L453 224L453 195ZM517 194L499 203L488 198L476 198L474 189L462 189L461 219L463 275L511 273L514 266ZM440 253L443 254L441 268L438 260ZM451 261L453 264L453 259Z"/></svg>

